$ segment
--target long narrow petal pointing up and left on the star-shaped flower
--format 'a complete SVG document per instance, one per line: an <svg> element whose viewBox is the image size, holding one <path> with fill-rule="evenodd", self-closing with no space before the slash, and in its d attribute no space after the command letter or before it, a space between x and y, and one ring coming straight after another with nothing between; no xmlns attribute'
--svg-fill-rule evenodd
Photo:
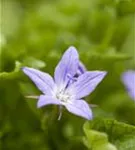
<svg viewBox="0 0 135 150"><path fill-rule="evenodd" d="M22 70L35 83L40 91L44 94L52 95L55 85L53 78L49 74L28 67L23 67Z"/></svg>

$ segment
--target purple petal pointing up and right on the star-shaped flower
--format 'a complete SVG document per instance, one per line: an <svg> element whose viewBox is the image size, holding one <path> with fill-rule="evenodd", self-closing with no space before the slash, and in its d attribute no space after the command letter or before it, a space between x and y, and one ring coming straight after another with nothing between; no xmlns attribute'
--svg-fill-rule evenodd
<svg viewBox="0 0 135 150"><path fill-rule="evenodd" d="M72 85L76 91L76 99L89 95L103 80L105 75L106 72L104 71L87 71L79 76L77 81Z"/></svg>

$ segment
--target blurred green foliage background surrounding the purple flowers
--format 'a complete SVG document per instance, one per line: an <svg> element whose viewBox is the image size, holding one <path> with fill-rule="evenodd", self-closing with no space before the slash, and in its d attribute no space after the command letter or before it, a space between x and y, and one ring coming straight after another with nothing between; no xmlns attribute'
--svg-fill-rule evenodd
<svg viewBox="0 0 135 150"><path fill-rule="evenodd" d="M108 75L86 100L94 117L135 125L135 103L121 75L135 69L134 0L1 0L0 149L85 150L84 119L57 106L36 108L40 94L20 71L29 66L53 75L63 52L78 49L88 70Z"/></svg>

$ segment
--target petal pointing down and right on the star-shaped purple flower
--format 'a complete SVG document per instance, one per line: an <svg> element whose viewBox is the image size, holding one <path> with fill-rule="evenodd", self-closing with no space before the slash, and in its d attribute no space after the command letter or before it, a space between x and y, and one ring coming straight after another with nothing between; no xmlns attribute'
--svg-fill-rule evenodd
<svg viewBox="0 0 135 150"><path fill-rule="evenodd" d="M65 105L67 110L77 116L81 116L88 120L92 119L92 111L84 100L74 100L72 103Z"/></svg>

